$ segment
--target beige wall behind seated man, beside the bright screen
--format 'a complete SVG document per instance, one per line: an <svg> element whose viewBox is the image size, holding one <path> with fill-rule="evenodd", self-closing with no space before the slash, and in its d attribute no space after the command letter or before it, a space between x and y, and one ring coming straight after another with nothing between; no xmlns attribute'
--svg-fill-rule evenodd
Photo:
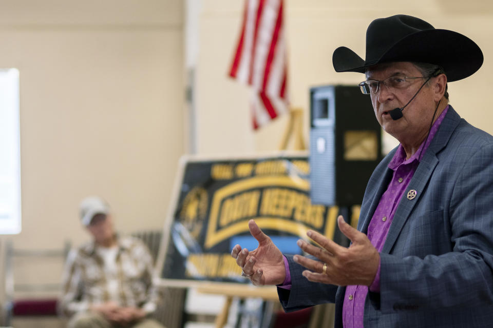
<svg viewBox="0 0 493 328"><path fill-rule="evenodd" d="M20 248L89 239L97 194L118 230L161 229L183 144L180 0L3 0L0 67L20 71Z"/></svg>

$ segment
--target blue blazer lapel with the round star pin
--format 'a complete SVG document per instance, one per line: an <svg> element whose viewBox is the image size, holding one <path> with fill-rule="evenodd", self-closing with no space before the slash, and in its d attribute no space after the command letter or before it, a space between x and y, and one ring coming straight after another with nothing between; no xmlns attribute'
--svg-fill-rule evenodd
<svg viewBox="0 0 493 328"><path fill-rule="evenodd" d="M419 202L421 195L423 195L428 180L439 162L437 153L447 145L447 142L450 140L452 132L456 129L460 119L459 114L457 114L452 106L450 106L437 134L433 137L428 150L423 156L418 169L414 172L414 175L409 182L409 186L399 202L382 253L388 254L392 250L397 237L401 233L404 224L409 219L413 208ZM409 199L408 192L411 190L415 191L415 197Z"/></svg>

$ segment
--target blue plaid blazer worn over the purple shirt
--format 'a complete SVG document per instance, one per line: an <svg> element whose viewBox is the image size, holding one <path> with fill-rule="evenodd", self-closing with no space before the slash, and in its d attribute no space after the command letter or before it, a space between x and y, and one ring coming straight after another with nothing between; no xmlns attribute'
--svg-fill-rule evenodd
<svg viewBox="0 0 493 328"><path fill-rule="evenodd" d="M373 172L358 230L366 232L392 178L390 152ZM381 252L381 291L365 302L365 327L493 327L493 137L449 108L395 212ZM309 282L287 256L285 311L335 302L343 327L345 287Z"/></svg>

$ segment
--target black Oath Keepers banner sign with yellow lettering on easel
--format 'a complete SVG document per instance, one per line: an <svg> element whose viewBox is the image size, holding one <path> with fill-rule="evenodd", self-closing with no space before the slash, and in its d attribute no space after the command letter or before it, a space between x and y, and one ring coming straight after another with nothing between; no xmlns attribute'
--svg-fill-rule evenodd
<svg viewBox="0 0 493 328"><path fill-rule="evenodd" d="M359 215L357 208L311 203L306 154L185 159L181 169L161 245L162 279L245 281L230 254L237 243L249 250L257 247L248 230L250 219L281 252L301 254L296 240L306 239L309 229L347 243L336 228L337 215L347 221L351 214L356 220Z"/></svg>

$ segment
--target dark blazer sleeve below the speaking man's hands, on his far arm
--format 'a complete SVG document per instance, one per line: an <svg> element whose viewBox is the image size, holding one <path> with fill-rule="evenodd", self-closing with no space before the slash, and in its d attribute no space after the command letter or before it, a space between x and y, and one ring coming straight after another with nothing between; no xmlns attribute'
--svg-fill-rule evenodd
<svg viewBox="0 0 493 328"><path fill-rule="evenodd" d="M294 262L292 255L285 256L288 259L289 272L291 274L291 290L278 287L277 294L282 308L286 312L305 309L317 304L335 302L335 293L338 286L308 281L307 278L301 275L306 268Z"/></svg>

